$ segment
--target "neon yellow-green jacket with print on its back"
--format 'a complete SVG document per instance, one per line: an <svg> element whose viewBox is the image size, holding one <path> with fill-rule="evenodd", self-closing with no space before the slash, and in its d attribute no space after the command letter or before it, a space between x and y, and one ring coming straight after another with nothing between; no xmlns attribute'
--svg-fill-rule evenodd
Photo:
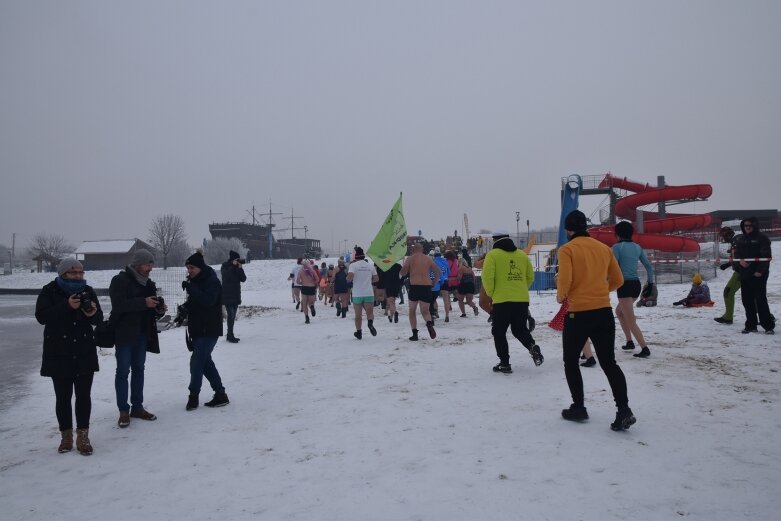
<svg viewBox="0 0 781 521"><path fill-rule="evenodd" d="M494 248L485 256L482 284L494 304L529 302L533 283L534 267L523 251Z"/></svg>

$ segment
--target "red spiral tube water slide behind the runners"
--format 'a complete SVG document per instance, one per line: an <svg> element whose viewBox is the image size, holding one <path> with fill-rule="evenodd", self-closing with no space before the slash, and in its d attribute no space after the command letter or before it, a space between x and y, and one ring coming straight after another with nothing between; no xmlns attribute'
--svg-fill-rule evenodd
<svg viewBox="0 0 781 521"><path fill-rule="evenodd" d="M708 184L685 186L651 186L648 184L630 181L627 178L613 177L607 174L599 184L600 188L619 188L629 192L635 192L616 202L616 216L628 219L635 223L637 220L637 208L660 202L691 202L703 201L713 194L713 187ZM694 239L679 235L660 235L677 231L696 230L705 228L711 224L711 216L708 214L680 214L666 213L659 218L657 212L643 212L644 233L636 233L633 240L648 250L665 252L698 252L700 245ZM613 226L601 226L589 230L589 234L595 239L612 246L616 242Z"/></svg>

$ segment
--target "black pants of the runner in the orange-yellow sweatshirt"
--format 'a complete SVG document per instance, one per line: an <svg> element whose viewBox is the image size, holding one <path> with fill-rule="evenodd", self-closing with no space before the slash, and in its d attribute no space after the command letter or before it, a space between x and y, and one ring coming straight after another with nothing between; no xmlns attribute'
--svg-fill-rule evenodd
<svg viewBox="0 0 781 521"><path fill-rule="evenodd" d="M594 344L599 366L607 376L613 399L621 409L627 407L626 378L616 363L616 322L611 308L567 313L564 320L564 375L572 402L583 405L583 377L580 374L580 352L586 339Z"/></svg>

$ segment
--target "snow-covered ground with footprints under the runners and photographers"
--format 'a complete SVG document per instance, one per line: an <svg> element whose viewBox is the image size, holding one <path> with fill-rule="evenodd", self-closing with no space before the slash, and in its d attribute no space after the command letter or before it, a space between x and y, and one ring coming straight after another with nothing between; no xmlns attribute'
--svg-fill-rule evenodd
<svg viewBox="0 0 781 521"><path fill-rule="evenodd" d="M778 258L781 243L773 247ZM781 335L741 335L740 304L735 325L713 321L730 272L710 283L715 308L673 308L688 291L679 284L638 310L652 355L617 353L637 424L616 433L599 367L583 369L590 421L561 419L570 397L561 337L546 327L554 295L532 296L545 363L534 367L513 340L515 372L502 375L491 371L482 312L454 313L438 321L436 340L415 343L406 304L398 324L376 308L378 336L359 341L351 313L336 318L322 303L304 324L290 267L247 265L241 343L221 340L214 353L227 407L185 411L189 355L173 329L147 358L145 405L159 419L117 427L115 363L104 350L92 392L95 453L58 454L50 380L31 374L29 395L0 418L2 518L777 518ZM87 280L107 287L113 274ZM18 274L0 286L51 278ZM777 265L768 293L781 316ZM202 401L210 397L206 386Z"/></svg>

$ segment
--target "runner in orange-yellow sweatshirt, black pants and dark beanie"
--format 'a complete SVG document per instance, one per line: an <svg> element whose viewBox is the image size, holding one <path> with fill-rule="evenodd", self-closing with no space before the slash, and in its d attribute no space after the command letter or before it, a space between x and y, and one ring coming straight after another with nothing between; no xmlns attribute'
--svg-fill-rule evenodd
<svg viewBox="0 0 781 521"><path fill-rule="evenodd" d="M569 303L562 339L572 405L561 411L561 416L570 421L588 419L578 361L583 344L591 339L618 408L610 428L625 430L636 419L629 408L626 378L616 363L616 323L610 304L610 292L624 283L624 277L611 249L589 236L583 212L570 212L564 227L569 242L559 248L556 300Z"/></svg>

